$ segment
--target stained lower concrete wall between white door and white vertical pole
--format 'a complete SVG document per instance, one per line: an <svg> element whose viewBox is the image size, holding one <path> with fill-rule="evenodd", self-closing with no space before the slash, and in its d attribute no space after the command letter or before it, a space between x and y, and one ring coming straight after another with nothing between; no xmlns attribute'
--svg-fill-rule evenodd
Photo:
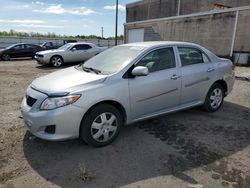
<svg viewBox="0 0 250 188"><path fill-rule="evenodd" d="M210 49L217 55L228 56L235 16L235 12L229 12L153 23L138 23L127 25L126 30L144 28L144 41L194 42Z"/></svg>

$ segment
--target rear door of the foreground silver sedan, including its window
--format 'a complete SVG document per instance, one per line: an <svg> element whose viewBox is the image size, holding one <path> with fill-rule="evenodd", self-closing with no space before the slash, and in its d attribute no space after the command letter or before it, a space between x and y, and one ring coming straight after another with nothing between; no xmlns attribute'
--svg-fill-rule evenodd
<svg viewBox="0 0 250 188"><path fill-rule="evenodd" d="M215 77L215 64L200 49L178 47L181 61L181 104L202 102Z"/></svg>

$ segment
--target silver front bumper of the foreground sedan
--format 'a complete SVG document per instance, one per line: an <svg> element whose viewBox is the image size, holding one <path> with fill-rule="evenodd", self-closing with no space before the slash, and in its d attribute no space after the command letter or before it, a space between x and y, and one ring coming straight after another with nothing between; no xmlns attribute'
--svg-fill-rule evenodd
<svg viewBox="0 0 250 188"><path fill-rule="evenodd" d="M21 113L25 126L36 137L45 140L66 140L79 137L79 128L83 114L83 108L68 105L54 110L40 110L42 101L47 95L28 88L27 95L37 101L31 107L27 104L27 97L23 98ZM55 126L55 133L45 131L48 126Z"/></svg>

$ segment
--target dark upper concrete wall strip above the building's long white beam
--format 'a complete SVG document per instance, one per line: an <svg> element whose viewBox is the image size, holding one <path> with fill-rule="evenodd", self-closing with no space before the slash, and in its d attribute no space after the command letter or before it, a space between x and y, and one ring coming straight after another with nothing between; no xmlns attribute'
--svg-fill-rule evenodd
<svg viewBox="0 0 250 188"><path fill-rule="evenodd" d="M144 0L128 4L126 21L135 22L147 19L178 15L179 0ZM250 5L249 0L180 0L180 15L205 12L215 9L219 3L229 7Z"/></svg>

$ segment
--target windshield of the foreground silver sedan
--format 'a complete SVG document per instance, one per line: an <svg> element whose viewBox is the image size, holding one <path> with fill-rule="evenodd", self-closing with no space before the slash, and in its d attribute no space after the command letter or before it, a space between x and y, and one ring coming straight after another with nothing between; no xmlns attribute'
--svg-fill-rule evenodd
<svg viewBox="0 0 250 188"><path fill-rule="evenodd" d="M99 70L102 74L112 74L122 70L145 48L135 46L117 46L89 59L82 66Z"/></svg>

